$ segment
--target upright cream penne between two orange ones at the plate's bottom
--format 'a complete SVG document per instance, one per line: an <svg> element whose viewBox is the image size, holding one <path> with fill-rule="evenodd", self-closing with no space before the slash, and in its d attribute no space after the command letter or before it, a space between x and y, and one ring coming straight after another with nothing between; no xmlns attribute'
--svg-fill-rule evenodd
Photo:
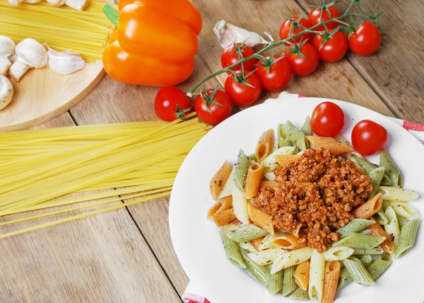
<svg viewBox="0 0 424 303"><path fill-rule="evenodd" d="M324 256L322 256L322 253L319 253L318 251L314 250L312 252L310 262L310 282L308 292L312 301L321 302L325 273Z"/></svg>

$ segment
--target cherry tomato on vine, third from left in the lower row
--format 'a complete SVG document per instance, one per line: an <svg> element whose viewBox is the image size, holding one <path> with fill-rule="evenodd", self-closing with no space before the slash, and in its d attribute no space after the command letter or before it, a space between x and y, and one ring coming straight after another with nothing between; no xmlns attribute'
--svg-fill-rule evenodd
<svg viewBox="0 0 424 303"><path fill-rule="evenodd" d="M249 71L245 71L244 74L249 74ZM257 101L261 94L262 86L257 75L250 74L245 77L242 76L241 71L237 71L237 80L235 75L230 74L225 80L225 93L230 97L232 103L239 106L247 106L254 101ZM243 84L242 81L247 82Z"/></svg>

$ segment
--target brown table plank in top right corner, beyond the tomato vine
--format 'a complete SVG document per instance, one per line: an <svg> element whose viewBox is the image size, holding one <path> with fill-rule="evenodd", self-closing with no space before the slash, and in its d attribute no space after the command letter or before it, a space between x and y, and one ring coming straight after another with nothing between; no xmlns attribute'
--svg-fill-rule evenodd
<svg viewBox="0 0 424 303"><path fill-rule="evenodd" d="M307 11L317 0L298 0ZM373 11L378 0L363 1ZM343 12L349 0L336 6ZM348 60L399 118L424 123L424 1L379 1L382 47L369 57L350 53Z"/></svg>

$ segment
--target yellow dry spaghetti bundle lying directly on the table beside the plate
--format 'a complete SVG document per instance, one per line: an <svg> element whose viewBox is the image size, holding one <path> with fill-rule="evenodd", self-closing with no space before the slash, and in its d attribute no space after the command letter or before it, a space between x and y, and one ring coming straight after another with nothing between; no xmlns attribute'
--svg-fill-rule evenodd
<svg viewBox="0 0 424 303"><path fill-rule="evenodd" d="M24 146L28 151L37 147L30 156L11 154L11 159L0 164L0 226L130 198L144 197L140 200L144 202L151 195L169 193L185 156L211 128L192 115L189 118L169 123L131 122L117 124L116 127L61 127L60 131L29 130L0 135L2 142L15 143L8 147ZM87 142L81 138L74 140L78 135L96 135L102 131L110 132L110 137L93 141L88 136L90 140ZM35 139L52 138L53 135L54 140L40 149L26 132L35 135ZM65 143L68 138L73 144ZM58 149L56 145L67 148ZM99 193L97 190L105 191ZM123 204L106 207L105 210L116 209ZM131 201L132 204L134 201ZM64 208L66 205L71 207ZM102 210L90 213L94 215ZM36 212L35 215L33 212ZM4 216L13 215L19 217L4 220ZM85 217L86 213L74 217L78 219L81 216ZM62 218L56 224L68 220L68 217ZM31 227L30 230L39 227ZM20 233L21 230L6 234ZM6 234L0 235L0 238Z"/></svg>

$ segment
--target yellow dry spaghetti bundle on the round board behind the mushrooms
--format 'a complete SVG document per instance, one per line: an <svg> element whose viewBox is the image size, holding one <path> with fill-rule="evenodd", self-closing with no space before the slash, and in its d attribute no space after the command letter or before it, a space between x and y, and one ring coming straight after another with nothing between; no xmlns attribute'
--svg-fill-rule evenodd
<svg viewBox="0 0 424 303"><path fill-rule="evenodd" d="M54 50L78 52L86 62L101 59L113 26L102 12L104 3L90 1L85 11L47 2L11 6L0 0L0 35L15 43L33 38Z"/></svg>

